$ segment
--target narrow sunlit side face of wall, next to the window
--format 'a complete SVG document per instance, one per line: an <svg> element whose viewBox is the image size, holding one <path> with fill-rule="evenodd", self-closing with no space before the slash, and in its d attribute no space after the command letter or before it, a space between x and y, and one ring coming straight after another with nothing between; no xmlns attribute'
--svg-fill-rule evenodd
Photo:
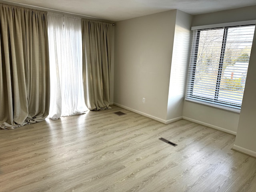
<svg viewBox="0 0 256 192"><path fill-rule="evenodd" d="M192 16L177 10L168 93L167 123L182 119Z"/></svg>

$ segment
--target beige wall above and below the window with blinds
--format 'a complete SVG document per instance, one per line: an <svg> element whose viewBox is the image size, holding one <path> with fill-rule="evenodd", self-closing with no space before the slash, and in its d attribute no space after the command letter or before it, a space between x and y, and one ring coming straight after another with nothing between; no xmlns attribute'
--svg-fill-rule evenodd
<svg viewBox="0 0 256 192"><path fill-rule="evenodd" d="M192 26L255 20L255 12L256 6L250 6L234 10L226 10L209 14L200 14L193 17ZM254 52L255 51L252 51L251 56L254 54ZM246 80L246 84L247 81L249 80ZM245 99L246 98L244 98L244 100ZM237 132L239 116L240 115L235 112L184 101L184 119L198 122L210 126L212 128L217 128L219 130L223 130L231 134L236 134Z"/></svg>

